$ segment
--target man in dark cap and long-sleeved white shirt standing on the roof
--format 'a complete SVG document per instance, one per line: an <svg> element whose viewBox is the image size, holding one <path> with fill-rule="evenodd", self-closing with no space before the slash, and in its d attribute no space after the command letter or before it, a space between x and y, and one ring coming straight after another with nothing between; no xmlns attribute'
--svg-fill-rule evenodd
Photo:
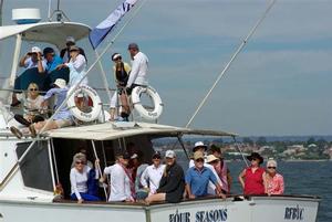
<svg viewBox="0 0 332 222"><path fill-rule="evenodd" d="M128 51L132 57L132 71L126 87L127 94L131 95L134 87L148 85L148 59L143 52L139 52L136 43L131 43Z"/></svg>

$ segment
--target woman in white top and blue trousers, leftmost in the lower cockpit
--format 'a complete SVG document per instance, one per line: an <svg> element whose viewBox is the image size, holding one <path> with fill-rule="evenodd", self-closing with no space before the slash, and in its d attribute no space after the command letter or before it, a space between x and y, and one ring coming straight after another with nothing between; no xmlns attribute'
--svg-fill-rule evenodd
<svg viewBox="0 0 332 222"><path fill-rule="evenodd" d="M70 180L71 180L71 199L77 200L77 203L83 201L98 201L100 198L89 194L87 180L90 171L93 170L86 166L86 157L83 154L76 154L74 156L75 167L71 169ZM98 160L95 161L95 168L98 165ZM95 179L98 179L98 171L95 170Z"/></svg>

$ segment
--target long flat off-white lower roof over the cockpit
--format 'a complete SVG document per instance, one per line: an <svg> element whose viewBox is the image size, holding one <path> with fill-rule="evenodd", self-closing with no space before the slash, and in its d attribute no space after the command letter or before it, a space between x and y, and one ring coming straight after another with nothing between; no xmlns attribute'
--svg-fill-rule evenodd
<svg viewBox="0 0 332 222"><path fill-rule="evenodd" d="M105 123L97 125L65 127L53 129L45 133L45 136L52 138L69 138L69 139L93 139L93 140L110 140L122 137L137 136L137 135L155 135L155 136L177 136L181 134L187 135L209 135L209 136L237 136L232 133L205 130L205 129L189 129L174 126L166 126L159 124L148 123Z"/></svg>

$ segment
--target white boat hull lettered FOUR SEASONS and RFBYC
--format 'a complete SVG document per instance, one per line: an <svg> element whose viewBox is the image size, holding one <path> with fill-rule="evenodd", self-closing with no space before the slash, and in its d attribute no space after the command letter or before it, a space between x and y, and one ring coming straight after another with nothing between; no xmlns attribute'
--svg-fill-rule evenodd
<svg viewBox="0 0 332 222"><path fill-rule="evenodd" d="M208 199L177 204L76 204L0 201L3 222L315 222L319 199L253 197Z"/></svg>

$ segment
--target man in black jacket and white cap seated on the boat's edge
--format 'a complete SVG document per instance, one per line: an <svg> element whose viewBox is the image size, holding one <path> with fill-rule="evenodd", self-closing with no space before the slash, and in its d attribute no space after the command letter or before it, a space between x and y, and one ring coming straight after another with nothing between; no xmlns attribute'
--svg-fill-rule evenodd
<svg viewBox="0 0 332 222"><path fill-rule="evenodd" d="M166 151L166 168L155 194L145 199L146 203L167 201L177 203L183 199L185 191L185 175L183 168L176 163L176 155L173 150Z"/></svg>

